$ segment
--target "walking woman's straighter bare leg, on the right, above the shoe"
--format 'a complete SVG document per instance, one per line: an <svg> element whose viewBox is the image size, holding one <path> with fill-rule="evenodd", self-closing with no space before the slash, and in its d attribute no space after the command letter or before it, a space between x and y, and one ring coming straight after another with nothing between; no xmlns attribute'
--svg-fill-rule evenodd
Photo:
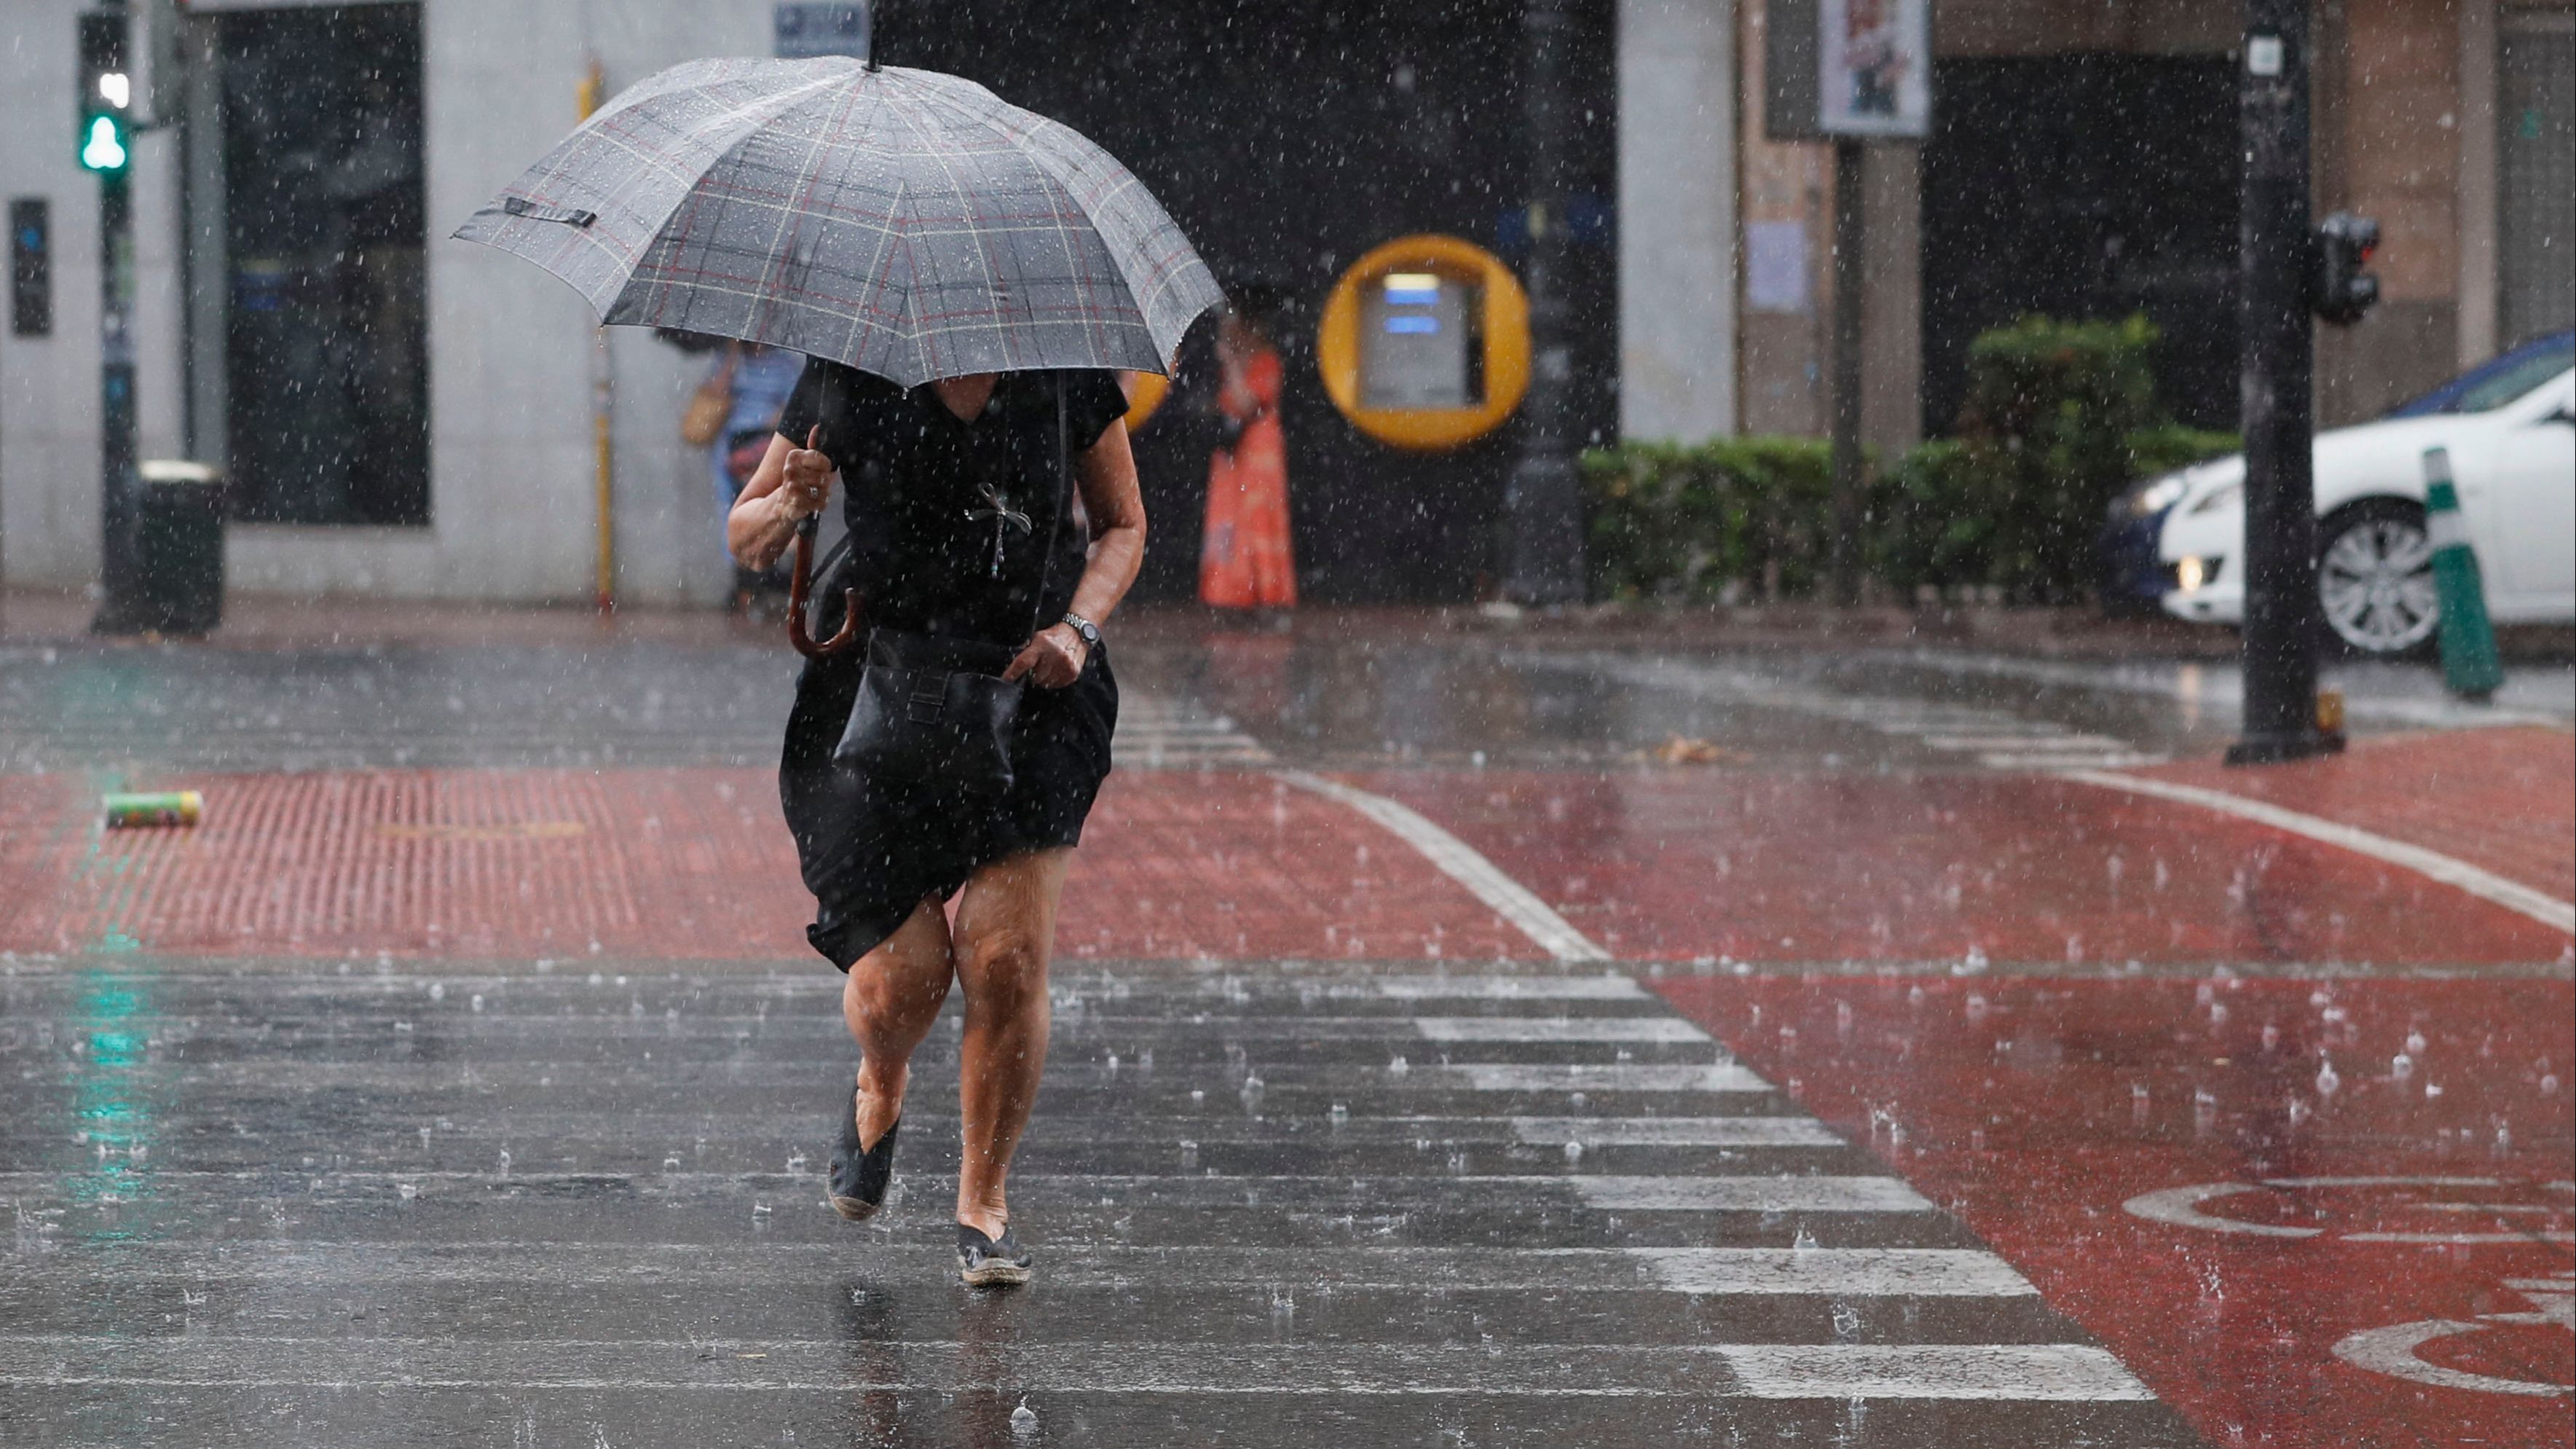
<svg viewBox="0 0 2576 1449"><path fill-rule="evenodd" d="M966 882L958 902L956 964L966 987L958 1222L987 1238L999 1238L1010 1222L1002 1186L1046 1070L1046 959L1072 859L1072 848L1059 848L994 861Z"/></svg>

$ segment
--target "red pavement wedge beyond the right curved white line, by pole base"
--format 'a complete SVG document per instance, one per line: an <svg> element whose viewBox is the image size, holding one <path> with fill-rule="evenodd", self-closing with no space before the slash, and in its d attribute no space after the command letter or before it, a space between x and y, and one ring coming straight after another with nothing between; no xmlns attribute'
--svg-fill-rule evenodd
<svg viewBox="0 0 2576 1449"><path fill-rule="evenodd" d="M2576 735L2566 730L2388 735L2295 766L2190 761L2136 773L2321 815L2576 900Z"/></svg>

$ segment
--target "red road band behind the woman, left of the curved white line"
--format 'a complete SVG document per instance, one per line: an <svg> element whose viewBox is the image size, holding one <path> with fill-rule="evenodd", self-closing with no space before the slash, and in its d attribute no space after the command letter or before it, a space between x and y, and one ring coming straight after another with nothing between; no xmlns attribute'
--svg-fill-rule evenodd
<svg viewBox="0 0 2576 1449"><path fill-rule="evenodd" d="M193 830L98 830L0 779L0 949L804 957L768 771L173 776ZM1358 815L1267 776L1126 773L1059 920L1074 957L1528 957Z"/></svg>

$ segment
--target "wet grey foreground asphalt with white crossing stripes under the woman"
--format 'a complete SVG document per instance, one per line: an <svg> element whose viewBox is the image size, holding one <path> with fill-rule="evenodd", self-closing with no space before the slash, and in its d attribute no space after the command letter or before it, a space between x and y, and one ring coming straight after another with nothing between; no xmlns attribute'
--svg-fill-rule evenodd
<svg viewBox="0 0 2576 1449"><path fill-rule="evenodd" d="M824 1207L832 987L8 967L5 1439L2195 1444L1628 977L1059 972L1023 1292L953 1279L953 1013Z"/></svg>

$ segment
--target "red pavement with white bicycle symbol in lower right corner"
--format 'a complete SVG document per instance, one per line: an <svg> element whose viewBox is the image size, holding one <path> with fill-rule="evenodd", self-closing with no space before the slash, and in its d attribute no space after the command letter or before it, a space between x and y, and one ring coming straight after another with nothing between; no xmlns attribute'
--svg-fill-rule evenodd
<svg viewBox="0 0 2576 1449"><path fill-rule="evenodd" d="M2427 1385L2336 1356L2354 1333L2447 1320L2465 1330L2414 1359L2532 1387L2576 1382L2566 1299L2548 1297L2576 1269L2563 1238L2576 1227L2566 1186L2576 985L2566 980L1695 975L1654 985L1958 1209L2210 1444L2576 1439L2563 1392ZM2326 1062L2339 1078L2331 1093L2318 1078ZM2460 1181L2254 1189L2200 1204L2226 1222L2318 1227L2311 1238L2123 1207L2202 1183L2378 1176ZM2403 1366L2406 1354L2391 1361Z"/></svg>

